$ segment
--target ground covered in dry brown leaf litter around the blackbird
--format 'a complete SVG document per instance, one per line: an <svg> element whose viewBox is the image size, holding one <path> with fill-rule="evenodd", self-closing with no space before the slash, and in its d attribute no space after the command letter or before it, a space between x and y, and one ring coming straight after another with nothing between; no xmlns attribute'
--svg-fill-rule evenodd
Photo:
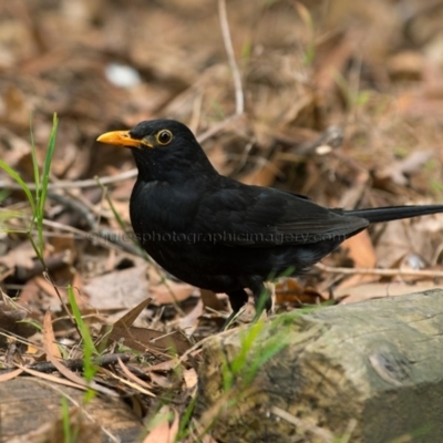
<svg viewBox="0 0 443 443"><path fill-rule="evenodd" d="M156 365L115 360L96 378L136 399L138 421L147 423L171 392L183 416L198 380L190 346L218 330L226 300L146 260L131 239L131 153L96 137L176 119L220 173L247 184L330 207L442 203L442 22L441 0L1 1L0 159L31 188L31 140L42 165L54 113L60 123L43 224L47 268L27 234L29 202L0 169L0 381L17 364L84 358L63 306L71 285L94 339L114 324L110 354L123 337L132 351L150 349ZM276 310L436 287L442 233L442 215L371 228L310 275L279 282ZM138 303L137 320L130 311L122 322ZM137 340L135 327L144 328ZM151 343L165 332L178 354L188 352L181 375L177 357L164 352L171 341ZM151 426L153 439L169 432L195 441L169 422L168 431ZM9 440L0 432L0 441Z"/></svg>

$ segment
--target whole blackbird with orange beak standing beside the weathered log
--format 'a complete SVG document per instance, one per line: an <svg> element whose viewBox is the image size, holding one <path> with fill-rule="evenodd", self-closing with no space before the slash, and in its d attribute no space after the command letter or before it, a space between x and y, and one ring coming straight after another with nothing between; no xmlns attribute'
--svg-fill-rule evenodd
<svg viewBox="0 0 443 443"><path fill-rule="evenodd" d="M130 214L141 245L178 279L227 293L228 321L247 302L246 288L257 315L269 310L264 281L300 275L370 224L443 213L443 205L326 208L298 194L241 184L218 174L190 130L173 120L141 122L97 141L134 155L138 177Z"/></svg>

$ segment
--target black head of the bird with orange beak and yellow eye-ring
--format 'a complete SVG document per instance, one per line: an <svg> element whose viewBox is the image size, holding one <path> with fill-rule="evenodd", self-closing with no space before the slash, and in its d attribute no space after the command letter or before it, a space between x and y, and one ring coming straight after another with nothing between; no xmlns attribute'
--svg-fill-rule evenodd
<svg viewBox="0 0 443 443"><path fill-rule="evenodd" d="M214 172L192 131L175 120L141 122L130 131L102 134L97 142L132 148L138 176L145 181Z"/></svg>

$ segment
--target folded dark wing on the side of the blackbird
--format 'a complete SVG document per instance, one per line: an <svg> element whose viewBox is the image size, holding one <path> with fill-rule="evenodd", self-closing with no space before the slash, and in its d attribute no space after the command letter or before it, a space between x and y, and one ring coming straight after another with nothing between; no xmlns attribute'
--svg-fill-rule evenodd
<svg viewBox="0 0 443 443"><path fill-rule="evenodd" d="M301 196L259 186L222 188L205 195L197 212L196 234L231 246L341 243L364 229L364 218L346 216Z"/></svg>

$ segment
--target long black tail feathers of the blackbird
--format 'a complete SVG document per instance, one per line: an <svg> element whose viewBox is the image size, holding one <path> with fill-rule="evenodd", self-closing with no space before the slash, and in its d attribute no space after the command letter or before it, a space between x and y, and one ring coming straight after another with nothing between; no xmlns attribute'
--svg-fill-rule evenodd
<svg viewBox="0 0 443 443"><path fill-rule="evenodd" d="M443 205L388 206L380 208L344 210L343 213L344 215L365 218L370 223L380 223L443 213Z"/></svg>

